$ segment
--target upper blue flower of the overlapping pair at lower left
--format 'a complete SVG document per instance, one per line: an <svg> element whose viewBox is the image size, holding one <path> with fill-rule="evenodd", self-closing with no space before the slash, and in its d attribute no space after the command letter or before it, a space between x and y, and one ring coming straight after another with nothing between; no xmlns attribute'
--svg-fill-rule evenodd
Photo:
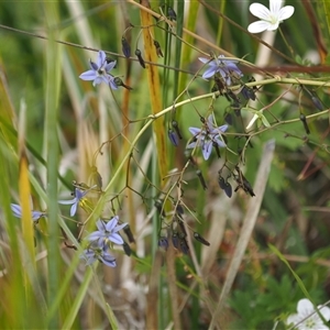
<svg viewBox="0 0 330 330"><path fill-rule="evenodd" d="M119 217L116 216L110 221L106 222L102 220L97 221L97 231L94 231L87 237L88 241L111 241L116 244L123 244L124 241L121 235L118 233L121 229L128 226L128 223L122 223L117 226L119 221Z"/></svg>

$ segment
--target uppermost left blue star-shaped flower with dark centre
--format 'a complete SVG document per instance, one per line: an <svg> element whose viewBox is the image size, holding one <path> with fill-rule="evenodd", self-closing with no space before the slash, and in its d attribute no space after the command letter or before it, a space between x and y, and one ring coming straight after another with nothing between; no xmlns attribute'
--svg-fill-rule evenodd
<svg viewBox="0 0 330 330"><path fill-rule="evenodd" d="M103 51L99 51L97 63L89 61L90 70L82 73L79 78L82 80L94 80L92 86L106 82L112 89L118 89L113 81L113 76L109 74L114 68L117 61L107 63L107 56Z"/></svg>

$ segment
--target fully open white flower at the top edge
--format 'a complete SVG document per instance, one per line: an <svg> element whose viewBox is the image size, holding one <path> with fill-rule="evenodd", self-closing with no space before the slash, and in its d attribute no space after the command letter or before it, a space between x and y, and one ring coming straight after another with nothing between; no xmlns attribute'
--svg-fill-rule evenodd
<svg viewBox="0 0 330 330"><path fill-rule="evenodd" d="M285 6L282 8L283 0L270 0L270 9L261 3L252 3L250 6L251 13L261 19L248 26L251 33L260 33L263 31L274 31L278 28L282 21L289 19L295 8L293 6Z"/></svg>

